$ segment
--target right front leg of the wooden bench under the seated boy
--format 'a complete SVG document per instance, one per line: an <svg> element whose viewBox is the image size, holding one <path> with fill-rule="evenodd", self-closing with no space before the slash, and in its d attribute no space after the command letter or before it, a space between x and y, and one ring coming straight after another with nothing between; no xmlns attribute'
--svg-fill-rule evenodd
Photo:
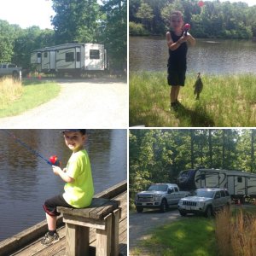
<svg viewBox="0 0 256 256"><path fill-rule="evenodd" d="M96 256L110 256L112 213L104 218L105 230L96 230Z"/></svg>

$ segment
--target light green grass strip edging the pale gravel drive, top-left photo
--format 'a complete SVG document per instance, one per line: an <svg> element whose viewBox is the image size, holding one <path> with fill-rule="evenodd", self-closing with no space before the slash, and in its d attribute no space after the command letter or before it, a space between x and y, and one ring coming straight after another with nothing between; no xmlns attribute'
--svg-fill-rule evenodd
<svg viewBox="0 0 256 256"><path fill-rule="evenodd" d="M25 80L22 82L21 95L0 108L0 117L14 116L36 108L55 98L60 91L61 87L55 82Z"/></svg>

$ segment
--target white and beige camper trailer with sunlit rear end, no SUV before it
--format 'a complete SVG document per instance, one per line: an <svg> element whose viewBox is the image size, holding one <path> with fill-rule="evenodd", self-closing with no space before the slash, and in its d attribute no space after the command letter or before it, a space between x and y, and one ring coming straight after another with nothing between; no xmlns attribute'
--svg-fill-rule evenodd
<svg viewBox="0 0 256 256"><path fill-rule="evenodd" d="M86 73L107 69L103 44L61 44L35 49L31 64L38 73Z"/></svg>

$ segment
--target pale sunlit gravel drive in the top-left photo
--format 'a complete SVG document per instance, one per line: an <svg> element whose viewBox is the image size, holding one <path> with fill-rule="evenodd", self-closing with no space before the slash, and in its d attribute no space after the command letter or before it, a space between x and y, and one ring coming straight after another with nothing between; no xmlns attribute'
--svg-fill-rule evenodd
<svg viewBox="0 0 256 256"><path fill-rule="evenodd" d="M1 128L126 128L128 85L116 79L60 79L55 99L15 117L0 119Z"/></svg>

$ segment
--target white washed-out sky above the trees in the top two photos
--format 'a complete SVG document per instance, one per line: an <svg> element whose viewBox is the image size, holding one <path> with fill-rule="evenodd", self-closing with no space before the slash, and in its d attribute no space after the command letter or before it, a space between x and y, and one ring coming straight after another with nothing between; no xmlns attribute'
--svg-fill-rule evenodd
<svg viewBox="0 0 256 256"><path fill-rule="evenodd" d="M28 26L40 26L40 28L52 28L50 16L55 15L51 9L50 0L0 0L0 20L7 20L9 24L18 24L22 28ZM128 0L129 1L129 0ZM100 0L98 0L101 3ZM224 2L221 0L221 2ZM230 2L239 2L230 0ZM241 2L256 5L256 0L241 0Z"/></svg>

